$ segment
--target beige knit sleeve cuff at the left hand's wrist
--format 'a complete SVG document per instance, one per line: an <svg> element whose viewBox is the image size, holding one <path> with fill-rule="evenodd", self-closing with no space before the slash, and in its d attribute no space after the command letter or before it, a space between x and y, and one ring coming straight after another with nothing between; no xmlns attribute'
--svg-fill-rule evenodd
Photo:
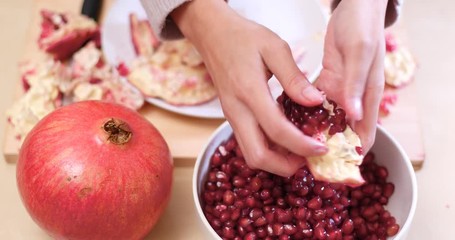
<svg viewBox="0 0 455 240"><path fill-rule="evenodd" d="M183 37L175 22L170 18L170 13L190 0L141 0L147 13L153 31L161 39L177 39Z"/></svg>

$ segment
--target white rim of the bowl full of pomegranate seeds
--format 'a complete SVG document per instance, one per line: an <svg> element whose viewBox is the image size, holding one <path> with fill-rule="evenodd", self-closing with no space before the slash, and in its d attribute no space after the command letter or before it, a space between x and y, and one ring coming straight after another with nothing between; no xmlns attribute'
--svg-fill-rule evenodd
<svg viewBox="0 0 455 240"><path fill-rule="evenodd" d="M204 147L201 149L199 152L199 155L196 159L196 163L194 165L193 169L193 177L192 177L192 191L193 191L193 201L194 204L196 205L196 211L198 213L198 216L200 220L203 222L204 226L207 228L207 230L211 233L211 235L217 239L221 239L221 237L215 232L215 230L212 228L210 223L208 222L207 218L204 215L204 212L202 210L202 205L201 202L199 201L199 193L198 193L198 174L199 174L199 169L202 164L202 158L207 155L206 150L209 148L209 146L212 144L214 141L215 137L220 134L220 132L225 131L226 128L229 128L231 133L232 133L232 127L229 124L228 121L224 121L210 136L209 140L207 143L204 145ZM409 210L409 213L407 214L406 220L404 221L404 224L400 226L400 230L396 236L394 236L393 239L402 239L406 237L406 234L412 224L412 220L414 219L414 214L416 211L417 207L417 178L415 175L414 168L411 164L411 161L409 160L408 155L406 154L404 148L399 144L399 142L381 125L377 125L377 130L378 132L381 132L389 141L392 142L393 145L396 146L398 152L400 155L403 156L404 162L406 169L411 177L411 188L412 188L412 198L411 198L411 207Z"/></svg>

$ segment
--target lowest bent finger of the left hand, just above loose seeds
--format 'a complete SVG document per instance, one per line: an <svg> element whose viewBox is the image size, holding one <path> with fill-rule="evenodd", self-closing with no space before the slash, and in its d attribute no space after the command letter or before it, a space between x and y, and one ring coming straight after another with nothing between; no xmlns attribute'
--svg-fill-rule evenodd
<svg viewBox="0 0 455 240"><path fill-rule="evenodd" d="M302 157L270 149L252 113L241 103L235 108L239 110L239 115L229 118L229 122L250 168L289 177L305 164Z"/></svg>

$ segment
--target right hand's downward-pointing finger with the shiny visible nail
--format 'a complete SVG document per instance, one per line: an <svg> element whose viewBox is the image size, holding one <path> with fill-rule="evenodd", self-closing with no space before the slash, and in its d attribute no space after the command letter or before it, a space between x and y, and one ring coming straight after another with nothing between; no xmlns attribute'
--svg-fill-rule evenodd
<svg viewBox="0 0 455 240"><path fill-rule="evenodd" d="M345 108L348 117L354 121L362 119L363 116L362 98L372 64L369 51L371 49L368 44L364 43L344 51L346 88L340 104Z"/></svg>

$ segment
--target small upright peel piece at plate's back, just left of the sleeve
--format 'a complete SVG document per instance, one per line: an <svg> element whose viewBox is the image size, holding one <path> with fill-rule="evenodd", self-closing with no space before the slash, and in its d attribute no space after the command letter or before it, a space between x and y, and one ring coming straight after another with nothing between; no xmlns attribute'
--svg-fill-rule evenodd
<svg viewBox="0 0 455 240"><path fill-rule="evenodd" d="M139 56L151 56L159 46L160 41L153 32L148 20L139 20L134 13L130 13L130 31L134 50Z"/></svg>

